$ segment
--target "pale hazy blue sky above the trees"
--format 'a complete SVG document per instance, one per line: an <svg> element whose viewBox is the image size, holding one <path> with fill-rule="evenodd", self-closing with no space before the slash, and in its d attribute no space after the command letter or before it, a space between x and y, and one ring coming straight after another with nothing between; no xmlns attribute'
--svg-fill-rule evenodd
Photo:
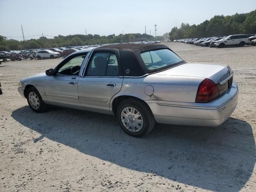
<svg viewBox="0 0 256 192"><path fill-rule="evenodd" d="M170 32L182 22L246 13L256 0L0 0L0 35L22 40L68 34Z"/></svg>

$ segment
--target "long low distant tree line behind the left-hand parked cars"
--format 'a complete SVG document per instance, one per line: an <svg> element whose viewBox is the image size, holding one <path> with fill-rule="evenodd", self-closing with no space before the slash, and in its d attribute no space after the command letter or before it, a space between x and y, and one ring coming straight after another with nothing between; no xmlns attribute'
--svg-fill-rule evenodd
<svg viewBox="0 0 256 192"><path fill-rule="evenodd" d="M165 34L165 36L168 34ZM66 46L81 46L81 45L96 45L96 44L110 44L132 42L134 40L162 40L163 36L150 36L149 34L130 33L130 34L111 34L108 36L100 36L98 34L76 34L62 36L58 35L54 38L46 38L41 36L39 39L30 39L25 41L18 41L14 39L7 39L0 36L0 51L6 50L26 50L37 48L56 48Z"/></svg>

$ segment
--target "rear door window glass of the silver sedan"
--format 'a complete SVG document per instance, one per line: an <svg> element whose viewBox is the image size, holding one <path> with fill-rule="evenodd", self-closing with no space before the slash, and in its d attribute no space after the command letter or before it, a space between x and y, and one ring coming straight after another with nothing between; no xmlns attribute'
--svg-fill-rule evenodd
<svg viewBox="0 0 256 192"><path fill-rule="evenodd" d="M116 55L95 53L87 68L86 76L119 76Z"/></svg>

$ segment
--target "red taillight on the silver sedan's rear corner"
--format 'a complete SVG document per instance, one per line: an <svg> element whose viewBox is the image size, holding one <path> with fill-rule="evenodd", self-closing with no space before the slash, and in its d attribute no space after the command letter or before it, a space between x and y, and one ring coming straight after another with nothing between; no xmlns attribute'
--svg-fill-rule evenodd
<svg viewBox="0 0 256 192"><path fill-rule="evenodd" d="M197 103L207 103L218 97L218 87L212 80L205 79L200 83L196 94Z"/></svg>

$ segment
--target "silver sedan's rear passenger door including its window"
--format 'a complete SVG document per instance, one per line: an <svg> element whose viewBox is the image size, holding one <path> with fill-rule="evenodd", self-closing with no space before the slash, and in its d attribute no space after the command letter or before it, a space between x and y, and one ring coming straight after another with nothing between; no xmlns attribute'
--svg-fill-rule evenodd
<svg viewBox="0 0 256 192"><path fill-rule="evenodd" d="M121 90L122 82L119 50L97 50L78 80L81 106L86 110L110 114L110 100Z"/></svg>

